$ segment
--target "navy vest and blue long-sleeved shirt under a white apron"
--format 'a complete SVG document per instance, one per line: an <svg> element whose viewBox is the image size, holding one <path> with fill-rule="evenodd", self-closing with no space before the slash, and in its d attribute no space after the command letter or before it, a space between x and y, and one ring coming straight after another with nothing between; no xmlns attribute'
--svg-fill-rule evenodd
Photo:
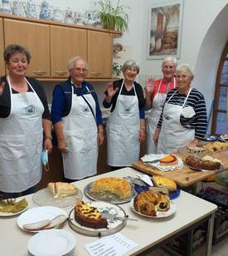
<svg viewBox="0 0 228 256"><path fill-rule="evenodd" d="M51 121L53 125L55 125L57 122L61 121L62 117L68 116L70 113L71 105L72 105L72 84L71 84L71 78L60 85L57 85L53 91L53 99L51 104ZM96 118L96 124L102 125L102 115L99 108L99 101L98 96L95 92L95 89L92 85L90 85L88 82L83 81L80 88L74 88L74 94L77 96L85 95L91 93L95 100L96 105L96 111L95 111L95 118ZM87 90L89 89L89 91Z"/></svg>

